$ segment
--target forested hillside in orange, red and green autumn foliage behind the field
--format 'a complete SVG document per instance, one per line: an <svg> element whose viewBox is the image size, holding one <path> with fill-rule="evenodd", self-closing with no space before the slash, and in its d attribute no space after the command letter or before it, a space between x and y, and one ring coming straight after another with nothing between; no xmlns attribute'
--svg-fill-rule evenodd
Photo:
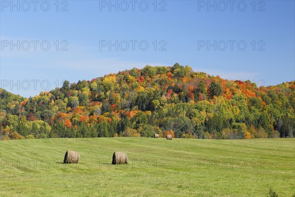
<svg viewBox="0 0 295 197"><path fill-rule="evenodd" d="M189 66L146 66L25 99L0 90L1 139L295 135L295 82L257 87Z"/></svg>

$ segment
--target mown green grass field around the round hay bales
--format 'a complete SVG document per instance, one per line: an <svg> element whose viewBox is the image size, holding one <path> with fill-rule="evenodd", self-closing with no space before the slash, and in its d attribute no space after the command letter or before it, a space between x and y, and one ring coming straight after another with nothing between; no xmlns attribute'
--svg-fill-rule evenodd
<svg viewBox="0 0 295 197"><path fill-rule="evenodd" d="M66 150L79 164L62 164ZM111 165L115 151L129 164ZM279 197L295 194L295 139L0 141L0 196Z"/></svg>

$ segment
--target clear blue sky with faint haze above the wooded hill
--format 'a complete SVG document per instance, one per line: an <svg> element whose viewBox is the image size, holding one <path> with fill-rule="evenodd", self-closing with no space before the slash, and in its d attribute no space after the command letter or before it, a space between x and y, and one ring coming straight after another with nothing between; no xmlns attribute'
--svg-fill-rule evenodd
<svg viewBox="0 0 295 197"><path fill-rule="evenodd" d="M29 97L64 79L176 62L259 85L295 80L293 0L132 2L1 0L1 88Z"/></svg>

